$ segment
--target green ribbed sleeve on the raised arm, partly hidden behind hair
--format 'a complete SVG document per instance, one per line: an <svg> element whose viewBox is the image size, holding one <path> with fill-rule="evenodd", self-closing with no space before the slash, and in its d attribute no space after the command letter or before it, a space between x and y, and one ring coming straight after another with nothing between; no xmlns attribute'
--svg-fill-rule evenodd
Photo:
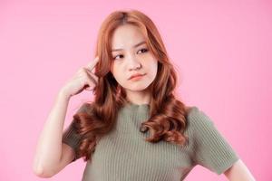
<svg viewBox="0 0 272 181"><path fill-rule="evenodd" d="M86 103L84 103L80 107L80 109L76 111L76 113L85 112L85 111L86 111ZM74 124L75 124L75 119L73 119L70 125L68 126L68 128L63 131L63 143L73 148L73 151L75 153L75 157L73 158L72 162L80 158L78 154L78 148L80 146L81 138L82 138L76 132L76 128Z"/></svg>

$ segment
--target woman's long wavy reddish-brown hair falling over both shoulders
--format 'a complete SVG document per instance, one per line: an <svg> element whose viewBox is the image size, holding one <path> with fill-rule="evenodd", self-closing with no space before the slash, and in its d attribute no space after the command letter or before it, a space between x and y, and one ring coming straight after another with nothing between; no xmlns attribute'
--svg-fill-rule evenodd
<svg viewBox="0 0 272 181"><path fill-rule="evenodd" d="M141 123L141 132L151 131L150 138L145 141L156 143L164 140L184 145L188 140L184 135L188 108L176 99L177 74L169 61L158 29L146 14L138 10L115 11L103 21L98 34L95 57L99 56L100 61L96 64L94 74L99 79L93 89L94 100L83 103L88 111L73 115L76 131L82 137L76 154L83 157L84 161L92 160L92 153L99 139L112 130L118 111L128 102L125 90L110 71L112 33L123 24L133 24L140 28L149 50L158 60L156 78L149 86L150 118Z"/></svg>

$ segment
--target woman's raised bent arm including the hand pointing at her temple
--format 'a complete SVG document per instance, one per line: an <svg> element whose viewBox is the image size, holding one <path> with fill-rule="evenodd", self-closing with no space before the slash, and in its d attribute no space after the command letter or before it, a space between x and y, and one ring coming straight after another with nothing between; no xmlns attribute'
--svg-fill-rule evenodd
<svg viewBox="0 0 272 181"><path fill-rule="evenodd" d="M83 90L92 90L98 78L92 73L98 57L75 73L58 92L53 108L44 123L34 155L33 171L36 176L51 177L73 160L73 148L63 143L63 125L69 100Z"/></svg>

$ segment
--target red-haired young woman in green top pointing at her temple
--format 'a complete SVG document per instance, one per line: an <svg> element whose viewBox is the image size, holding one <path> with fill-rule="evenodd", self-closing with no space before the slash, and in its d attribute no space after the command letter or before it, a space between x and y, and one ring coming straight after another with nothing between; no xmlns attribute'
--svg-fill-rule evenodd
<svg viewBox="0 0 272 181"><path fill-rule="evenodd" d="M254 180L212 120L175 95L176 71L146 14L110 14L95 55L58 93L38 141L37 176L54 176L83 157L85 181L180 181L197 165L229 180ZM68 102L83 90L94 100L63 131Z"/></svg>

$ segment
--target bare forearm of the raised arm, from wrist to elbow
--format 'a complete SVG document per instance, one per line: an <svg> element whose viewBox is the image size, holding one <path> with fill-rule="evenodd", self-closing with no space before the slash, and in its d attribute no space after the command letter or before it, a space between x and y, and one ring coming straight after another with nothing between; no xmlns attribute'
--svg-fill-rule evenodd
<svg viewBox="0 0 272 181"><path fill-rule="evenodd" d="M70 98L61 90L56 96L38 139L34 156L34 170L53 169L62 156L63 124Z"/></svg>

